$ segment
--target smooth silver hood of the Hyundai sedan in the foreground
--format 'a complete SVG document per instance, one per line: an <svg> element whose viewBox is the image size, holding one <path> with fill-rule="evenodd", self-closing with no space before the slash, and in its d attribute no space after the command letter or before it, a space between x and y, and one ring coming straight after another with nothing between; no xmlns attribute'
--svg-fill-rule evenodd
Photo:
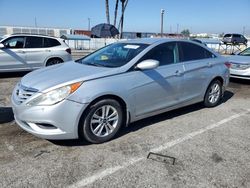
<svg viewBox="0 0 250 188"><path fill-rule="evenodd" d="M70 61L33 71L22 78L21 84L42 92L59 85L101 78L118 72L119 68L96 67Z"/></svg>

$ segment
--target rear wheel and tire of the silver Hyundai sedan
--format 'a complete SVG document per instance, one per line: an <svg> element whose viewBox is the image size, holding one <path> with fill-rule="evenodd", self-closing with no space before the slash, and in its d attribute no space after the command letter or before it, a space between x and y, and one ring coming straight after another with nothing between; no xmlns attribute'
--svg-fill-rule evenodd
<svg viewBox="0 0 250 188"><path fill-rule="evenodd" d="M206 107L214 107L217 106L222 97L222 83L219 80L214 80L210 83L207 88L205 97L204 97L204 105Z"/></svg>

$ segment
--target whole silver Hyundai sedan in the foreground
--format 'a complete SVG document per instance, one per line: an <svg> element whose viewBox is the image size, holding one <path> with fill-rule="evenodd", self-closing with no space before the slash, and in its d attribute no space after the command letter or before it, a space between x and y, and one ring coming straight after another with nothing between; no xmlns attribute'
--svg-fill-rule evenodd
<svg viewBox="0 0 250 188"><path fill-rule="evenodd" d="M24 76L12 94L16 122L45 139L102 143L128 123L203 101L218 105L226 58L196 42L138 39Z"/></svg>

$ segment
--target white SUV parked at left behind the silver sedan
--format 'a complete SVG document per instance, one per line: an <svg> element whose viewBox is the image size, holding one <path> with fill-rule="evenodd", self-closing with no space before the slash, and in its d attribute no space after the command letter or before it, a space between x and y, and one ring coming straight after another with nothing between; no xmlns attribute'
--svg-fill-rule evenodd
<svg viewBox="0 0 250 188"><path fill-rule="evenodd" d="M29 71L71 59L70 48L59 38L15 34L0 41L0 72Z"/></svg>

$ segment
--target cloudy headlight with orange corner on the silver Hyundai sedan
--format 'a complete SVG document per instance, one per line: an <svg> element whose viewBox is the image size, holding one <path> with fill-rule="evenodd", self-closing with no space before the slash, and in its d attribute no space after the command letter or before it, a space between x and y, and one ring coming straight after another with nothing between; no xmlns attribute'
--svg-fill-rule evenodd
<svg viewBox="0 0 250 188"><path fill-rule="evenodd" d="M64 100L66 97L68 97L71 93L76 91L82 82L77 82L71 85L63 86L57 89L54 89L52 91L49 91L47 93L43 93L40 96L34 98L30 102L27 103L29 106L48 106L48 105L53 105L58 102L61 102Z"/></svg>

